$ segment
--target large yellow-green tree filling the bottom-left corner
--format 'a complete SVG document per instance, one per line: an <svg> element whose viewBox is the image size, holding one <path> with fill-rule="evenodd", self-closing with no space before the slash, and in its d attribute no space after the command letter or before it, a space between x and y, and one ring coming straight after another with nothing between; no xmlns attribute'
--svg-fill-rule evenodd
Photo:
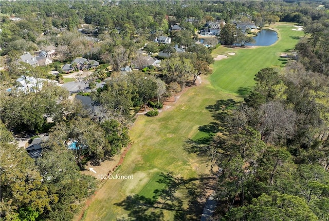
<svg viewBox="0 0 329 221"><path fill-rule="evenodd" d="M27 220L38 217L54 200L47 194L34 160L16 145L1 143L1 217Z"/></svg>

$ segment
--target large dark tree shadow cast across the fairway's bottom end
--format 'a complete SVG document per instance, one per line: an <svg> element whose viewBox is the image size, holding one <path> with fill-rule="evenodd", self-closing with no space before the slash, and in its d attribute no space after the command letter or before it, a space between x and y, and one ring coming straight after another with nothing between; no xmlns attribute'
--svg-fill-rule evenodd
<svg viewBox="0 0 329 221"><path fill-rule="evenodd" d="M207 189L216 177L202 176L185 179L172 172L161 173L157 183L164 187L153 191L153 197L130 195L116 206L129 211L129 220L166 220L164 211L174 213L173 220L198 220L203 211ZM187 205L187 206L184 206Z"/></svg>

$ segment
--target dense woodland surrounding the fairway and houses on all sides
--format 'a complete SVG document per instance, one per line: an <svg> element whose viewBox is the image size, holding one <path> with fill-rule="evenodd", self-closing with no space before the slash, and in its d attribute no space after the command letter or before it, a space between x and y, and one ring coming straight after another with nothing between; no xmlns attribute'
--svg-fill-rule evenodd
<svg viewBox="0 0 329 221"><path fill-rule="evenodd" d="M260 28L290 22L303 26L304 37L285 67L255 70L255 85L243 100L207 104L214 122L205 127L211 132L192 140L190 148L221 168L212 171L218 175L213 220L329 220L329 13L318 5L329 8L326 1L0 2L0 217L72 220L100 188L99 180L81 173L86 163L100 165L120 154L134 142L129 129L137 112L152 107L149 116L158 115L168 97L176 101L177 93L197 87L199 76L211 74L211 52L223 46L196 44L197 30L224 20L231 39L222 32L223 45L242 41L234 21L253 21ZM183 29L170 31L177 23ZM98 41L78 32L81 24L89 25L87 36ZM173 43L154 43L161 35ZM186 52L177 53L175 45ZM58 53L51 66L17 62L24 52L47 46ZM136 52L141 48L171 56L158 57L160 67L143 68ZM82 93L96 112L56 84L44 83L35 93L14 89L20 76L60 81L61 65L78 56L101 64L82 79L89 86L111 76L103 87ZM132 64L138 68L120 74ZM33 159L16 140L40 133L49 138L42 157ZM69 150L67 140L76 140L78 148Z"/></svg>

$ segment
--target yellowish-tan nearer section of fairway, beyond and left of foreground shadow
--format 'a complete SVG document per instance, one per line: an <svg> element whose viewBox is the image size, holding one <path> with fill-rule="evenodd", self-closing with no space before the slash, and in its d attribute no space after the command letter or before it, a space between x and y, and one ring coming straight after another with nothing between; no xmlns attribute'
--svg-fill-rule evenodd
<svg viewBox="0 0 329 221"><path fill-rule="evenodd" d="M217 99L231 97L206 85L192 87L170 110L163 111L159 116L140 115L130 131L133 146L115 172L134 175L134 179L107 180L88 208L84 220L116 220L116 217L127 213L122 206L115 205L125 197L139 194L151 198L155 189L165 186L157 182L161 172L173 172L174 176L184 178L209 175L207 160L188 153L182 146L187 138L199 133L200 126L211 122L211 114L205 107L214 104ZM174 212L163 212L165 220L173 219Z"/></svg>

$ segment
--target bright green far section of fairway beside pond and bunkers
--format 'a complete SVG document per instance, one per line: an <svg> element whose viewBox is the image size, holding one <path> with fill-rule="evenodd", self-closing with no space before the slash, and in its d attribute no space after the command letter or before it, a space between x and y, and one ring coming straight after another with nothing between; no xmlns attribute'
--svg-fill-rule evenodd
<svg viewBox="0 0 329 221"><path fill-rule="evenodd" d="M280 54L293 50L304 32L291 30L294 28L292 24L278 23L270 27L279 29L279 39L271 46L234 49L221 46L213 51L214 56L229 56L212 65L210 81L215 88L241 94L254 85L253 76L262 68L281 68L285 65L286 58L280 58ZM228 55L228 52L234 52L235 55Z"/></svg>

